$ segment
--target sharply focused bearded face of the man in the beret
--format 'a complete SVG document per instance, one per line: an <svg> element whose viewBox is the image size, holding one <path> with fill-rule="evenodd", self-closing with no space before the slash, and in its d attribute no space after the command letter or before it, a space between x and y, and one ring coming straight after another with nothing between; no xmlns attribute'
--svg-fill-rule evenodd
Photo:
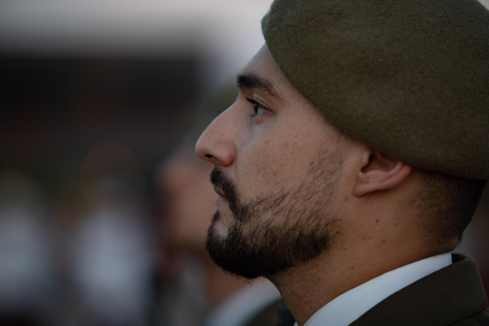
<svg viewBox="0 0 489 326"><path fill-rule="evenodd" d="M196 145L220 193L206 248L225 270L270 278L329 248L354 142L293 88L266 46L238 84L235 103Z"/></svg>

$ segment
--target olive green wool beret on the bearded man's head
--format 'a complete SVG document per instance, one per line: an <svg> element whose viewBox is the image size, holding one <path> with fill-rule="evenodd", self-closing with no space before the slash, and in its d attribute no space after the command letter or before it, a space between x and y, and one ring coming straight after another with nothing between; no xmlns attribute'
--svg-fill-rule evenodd
<svg viewBox="0 0 489 326"><path fill-rule="evenodd" d="M489 179L489 11L476 0L275 0L290 83L339 129L415 167Z"/></svg>

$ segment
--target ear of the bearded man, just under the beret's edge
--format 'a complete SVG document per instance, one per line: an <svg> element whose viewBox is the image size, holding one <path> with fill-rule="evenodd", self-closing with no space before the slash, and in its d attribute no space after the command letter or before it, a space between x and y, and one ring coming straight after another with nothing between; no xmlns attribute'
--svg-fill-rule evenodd
<svg viewBox="0 0 489 326"><path fill-rule="evenodd" d="M400 185L411 173L412 166L369 149L362 154L353 194L361 197L377 190Z"/></svg>

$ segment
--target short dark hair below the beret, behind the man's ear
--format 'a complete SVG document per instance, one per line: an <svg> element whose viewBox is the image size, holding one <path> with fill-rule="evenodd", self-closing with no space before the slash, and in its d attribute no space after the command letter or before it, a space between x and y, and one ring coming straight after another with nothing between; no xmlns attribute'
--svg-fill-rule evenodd
<svg viewBox="0 0 489 326"><path fill-rule="evenodd" d="M433 171L420 170L421 187L418 201L422 226L435 248L445 248L462 235L479 205L487 180L459 178Z"/></svg>

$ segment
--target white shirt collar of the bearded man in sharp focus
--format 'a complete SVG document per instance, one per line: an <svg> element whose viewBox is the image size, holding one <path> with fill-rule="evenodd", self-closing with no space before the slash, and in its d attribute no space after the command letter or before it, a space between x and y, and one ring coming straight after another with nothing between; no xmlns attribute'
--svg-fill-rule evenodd
<svg viewBox="0 0 489 326"><path fill-rule="evenodd" d="M336 297L316 311L304 326L350 325L385 298L451 263L452 256L446 253L382 274Z"/></svg>

